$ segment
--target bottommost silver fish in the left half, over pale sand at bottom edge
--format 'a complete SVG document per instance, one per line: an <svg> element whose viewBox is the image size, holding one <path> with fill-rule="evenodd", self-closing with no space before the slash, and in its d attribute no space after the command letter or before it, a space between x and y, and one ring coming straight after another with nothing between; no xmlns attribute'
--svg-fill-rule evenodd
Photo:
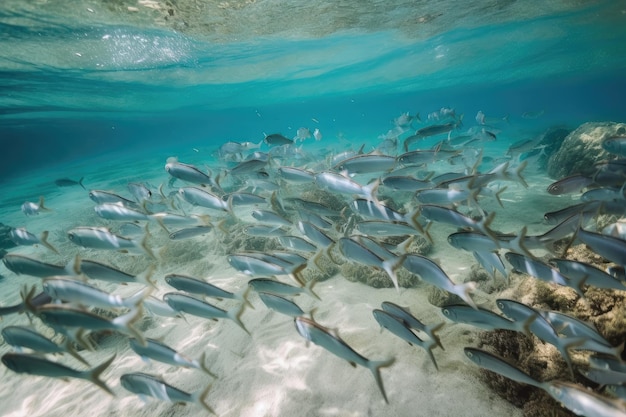
<svg viewBox="0 0 626 417"><path fill-rule="evenodd" d="M142 372L123 374L120 377L120 384L126 390L134 394L139 394L140 396L148 395L161 401L169 401L172 403L193 403L201 406L211 414L216 414L206 402L206 397L211 388L210 385L203 391L190 394L169 385L161 378Z"/></svg>

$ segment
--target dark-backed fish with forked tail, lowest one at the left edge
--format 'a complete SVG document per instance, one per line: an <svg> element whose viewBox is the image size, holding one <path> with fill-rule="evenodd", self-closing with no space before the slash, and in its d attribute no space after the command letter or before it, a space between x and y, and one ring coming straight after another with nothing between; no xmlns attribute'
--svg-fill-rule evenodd
<svg viewBox="0 0 626 417"><path fill-rule="evenodd" d="M108 394L115 396L113 391L100 379L100 375L113 363L115 355L93 369L78 371L57 362L51 362L39 355L23 353L5 353L2 363L17 373L47 376L52 378L80 378L86 379L102 388Z"/></svg>

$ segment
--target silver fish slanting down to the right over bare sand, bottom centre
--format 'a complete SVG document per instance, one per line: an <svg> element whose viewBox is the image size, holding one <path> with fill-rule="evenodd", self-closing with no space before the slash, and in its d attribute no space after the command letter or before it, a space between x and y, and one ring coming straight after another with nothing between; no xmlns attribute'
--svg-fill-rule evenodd
<svg viewBox="0 0 626 417"><path fill-rule="evenodd" d="M361 356L354 349L348 346L348 344L346 344L346 342L344 342L339 336L332 335L329 329L314 322L313 320L309 320L305 317L296 317L294 319L294 323L300 336L304 337L306 340L313 342L341 359L348 361L348 363L350 363L353 367L361 365L364 368L369 369L376 380L378 389L383 395L385 402L389 404L385 388L383 387L380 369L391 366L395 361L395 358L372 361Z"/></svg>

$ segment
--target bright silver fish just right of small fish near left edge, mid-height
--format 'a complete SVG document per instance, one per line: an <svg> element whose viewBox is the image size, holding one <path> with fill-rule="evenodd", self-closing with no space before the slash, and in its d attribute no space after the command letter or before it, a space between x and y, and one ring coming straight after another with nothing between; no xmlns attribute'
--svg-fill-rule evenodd
<svg viewBox="0 0 626 417"><path fill-rule="evenodd" d="M70 242L83 248L123 250L140 249L152 259L156 259L146 245L148 234L141 241L116 235L106 227L75 227L67 232Z"/></svg>

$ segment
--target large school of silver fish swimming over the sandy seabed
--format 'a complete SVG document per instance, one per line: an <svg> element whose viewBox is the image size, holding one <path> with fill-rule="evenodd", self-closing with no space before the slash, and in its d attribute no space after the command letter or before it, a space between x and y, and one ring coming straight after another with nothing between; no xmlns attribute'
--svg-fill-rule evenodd
<svg viewBox="0 0 626 417"><path fill-rule="evenodd" d="M93 204L94 219L98 221L76 224L64 231L64 244L71 242L84 248L66 264L50 264L20 254L19 246L37 245L41 250L63 255L57 248L60 245L49 241L47 231L39 237L24 227L11 231L12 240L19 246L3 258L4 266L13 274L38 277L41 282L34 287L21 286L22 301L0 306L0 316L26 313L38 326L51 328L55 337L47 338L33 325L2 326L4 342L15 347L15 351L2 356L2 363L16 373L85 379L113 395L101 374L115 366L116 358L124 352L122 348L95 365L89 364L81 351L98 349L92 334L115 331L127 337L128 349L143 358L195 368L206 373L208 379L219 380L204 356L186 358L143 334L139 330L142 320L147 316L183 320L185 315L193 315L229 321L232 323L219 325L235 325L246 334L254 334L255 329L242 320L242 313L245 309L269 308L293 320L294 338L312 342L352 366L367 368L382 400L393 402L385 391L385 371L381 370L395 359L362 356L358 352L363 346L350 346L331 330L332 322L317 322L314 311L305 312L294 301L296 295L306 294L316 301L316 310L323 309L324 300L315 292L316 279L311 278L315 275L307 271L323 275L325 262L352 262L383 271L389 286L398 292L398 272L403 269L457 295L462 303L433 307L433 311L441 312L452 323L537 337L560 352L572 375L579 372L597 384L612 386L609 392L613 394L570 382L536 381L515 364L468 346L465 355L476 365L541 388L574 413L626 416L623 344L612 346L595 328L575 317L540 311L515 300L498 299L500 312L485 309L472 296L477 283L455 283L445 265L408 250L412 240L432 242L433 234L452 227L456 231L447 237L449 249L472 253L493 279L508 282L515 271L555 286L571 287L582 298L588 286L626 291L625 223L617 221L602 230L593 226L597 216L626 214L626 160L621 159L626 157L626 137L605 140L603 147L613 158L599 162L593 175L574 175L556 181L547 190L537 190L553 195L586 190L580 203L545 213L544 233L528 235L526 228L502 233L492 228L494 217L500 215L492 208L505 205L500 197L507 187L509 191L528 187L524 170L534 164L533 158L541 154L542 147L532 139L513 144L501 160L483 158L485 143L495 141L498 129L506 127L493 128L482 112L476 122L476 126L464 129L463 115L450 108L432 112L424 121L419 114L403 113L393 121L393 128L380 136L376 146L365 149L359 143L347 150L325 149L324 153L307 151L306 140L310 137L314 137L315 144L322 143L320 130L311 133L308 128L300 128L293 138L273 133L257 143L223 143L215 149L210 170L169 158L159 187L138 178L138 182L128 183L127 190L88 190L84 201L77 204ZM495 123L505 124L508 119L497 118ZM422 146L427 141L436 144ZM83 178L64 178L56 184L85 188ZM311 193L326 197L307 198ZM50 209L44 197L21 207L26 216L45 216ZM103 227L103 222L109 226ZM245 274L249 279L245 290L233 293L204 278L159 273L168 262L162 256L168 241L223 239L242 231L244 241L273 242L278 248L229 249L226 261L233 273ZM403 243L392 245L389 237ZM613 263L612 267L607 272L563 258L553 247L563 240L569 245L584 243ZM129 274L101 261L97 254L104 251L141 257L151 266L142 274ZM549 262L539 258L539 253L546 252L553 257ZM7 279L0 282L0 287L19 282ZM131 284L136 292L123 298L100 289L99 282ZM223 307L225 299L228 308ZM422 323L409 308L393 300L382 303L372 315L381 328L421 347L438 369L433 350L444 350L444 346L437 333L449 324ZM574 367L572 350L591 352L588 368ZM59 353L73 356L87 369L66 366L64 359L49 359L49 355ZM209 405L208 383L206 389L188 393L159 376L133 372L122 375L120 384L142 397L194 403L215 413Z"/></svg>

